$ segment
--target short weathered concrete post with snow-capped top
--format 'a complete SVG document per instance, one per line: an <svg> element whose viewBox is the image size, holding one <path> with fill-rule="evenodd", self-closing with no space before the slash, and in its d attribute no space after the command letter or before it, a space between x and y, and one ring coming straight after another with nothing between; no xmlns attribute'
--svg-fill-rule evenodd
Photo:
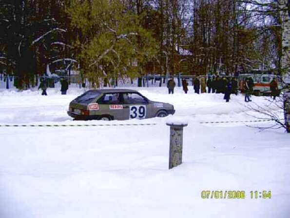
<svg viewBox="0 0 290 218"><path fill-rule="evenodd" d="M182 163L183 127L186 127L187 123L167 122L166 125L170 126L169 169L171 169Z"/></svg>

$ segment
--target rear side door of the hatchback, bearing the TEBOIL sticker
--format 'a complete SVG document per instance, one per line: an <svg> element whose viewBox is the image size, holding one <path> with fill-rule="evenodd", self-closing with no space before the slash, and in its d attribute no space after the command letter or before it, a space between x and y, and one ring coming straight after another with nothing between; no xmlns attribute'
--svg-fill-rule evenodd
<svg viewBox="0 0 290 218"><path fill-rule="evenodd" d="M122 93L105 93L97 102L102 115L113 116L115 120L123 119Z"/></svg>

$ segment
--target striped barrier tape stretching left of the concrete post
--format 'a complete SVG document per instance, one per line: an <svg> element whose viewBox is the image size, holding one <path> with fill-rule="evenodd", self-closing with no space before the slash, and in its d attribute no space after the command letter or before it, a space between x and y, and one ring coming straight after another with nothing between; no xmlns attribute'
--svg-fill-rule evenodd
<svg viewBox="0 0 290 218"><path fill-rule="evenodd" d="M0 127L103 127L103 126L150 126L156 123L140 124L60 124L60 125L0 125Z"/></svg>

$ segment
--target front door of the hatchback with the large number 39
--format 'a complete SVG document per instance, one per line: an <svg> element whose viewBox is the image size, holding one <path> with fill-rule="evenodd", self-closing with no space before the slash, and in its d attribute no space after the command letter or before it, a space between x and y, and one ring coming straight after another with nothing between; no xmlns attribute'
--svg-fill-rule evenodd
<svg viewBox="0 0 290 218"><path fill-rule="evenodd" d="M148 118L148 100L136 92L123 93L123 118Z"/></svg>

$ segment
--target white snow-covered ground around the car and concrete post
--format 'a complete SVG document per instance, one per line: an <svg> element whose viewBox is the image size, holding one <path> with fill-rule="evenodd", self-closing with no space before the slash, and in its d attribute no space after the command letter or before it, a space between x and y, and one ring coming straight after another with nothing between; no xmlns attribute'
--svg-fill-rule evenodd
<svg viewBox="0 0 290 218"><path fill-rule="evenodd" d="M242 95L186 95L175 88L137 88L174 105L165 118L73 121L69 102L82 89L48 96L0 91L0 125L137 124L155 126L0 127L0 218L289 218L290 136L259 131ZM264 97L252 97L268 105ZM249 103L254 105L253 103ZM275 109L274 106L270 106ZM250 115L249 115L250 114ZM281 111L282 117L282 111ZM169 127L188 122L183 163L168 170ZM247 123L249 124L249 123ZM251 123L265 127L271 122ZM202 199L201 192L245 191L245 199ZM271 199L251 199L251 191Z"/></svg>

